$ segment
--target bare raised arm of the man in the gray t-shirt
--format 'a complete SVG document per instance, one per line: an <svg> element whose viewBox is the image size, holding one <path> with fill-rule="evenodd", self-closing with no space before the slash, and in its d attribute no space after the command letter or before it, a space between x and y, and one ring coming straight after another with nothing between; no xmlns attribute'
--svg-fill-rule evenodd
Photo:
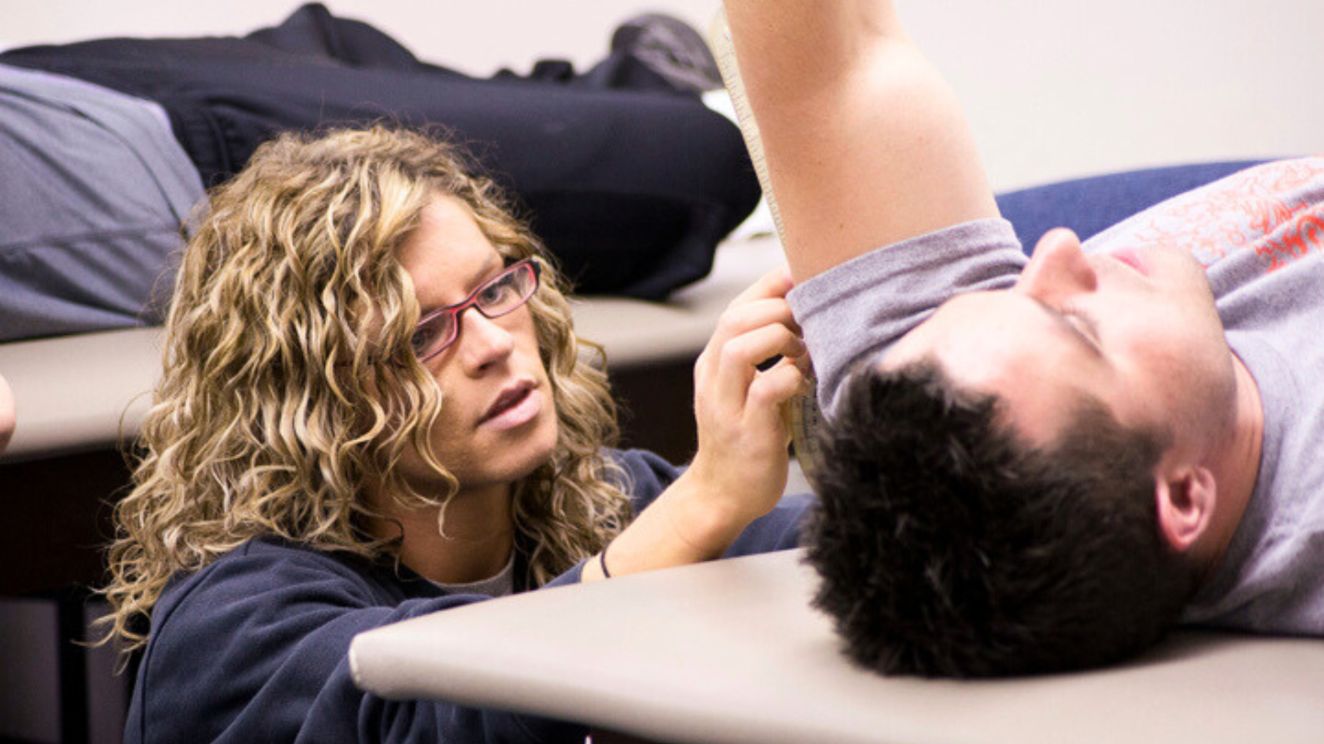
<svg viewBox="0 0 1324 744"><path fill-rule="evenodd" d="M951 89L886 0L726 0L796 281L997 204Z"/></svg>

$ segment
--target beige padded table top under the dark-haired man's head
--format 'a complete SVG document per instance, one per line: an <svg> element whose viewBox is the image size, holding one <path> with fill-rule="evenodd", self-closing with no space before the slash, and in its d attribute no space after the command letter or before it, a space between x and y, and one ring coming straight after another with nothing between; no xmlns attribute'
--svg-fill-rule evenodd
<svg viewBox="0 0 1324 744"><path fill-rule="evenodd" d="M851 667L792 551L482 602L359 635L361 687L714 744L1324 741L1324 641L1184 633L996 682Z"/></svg>

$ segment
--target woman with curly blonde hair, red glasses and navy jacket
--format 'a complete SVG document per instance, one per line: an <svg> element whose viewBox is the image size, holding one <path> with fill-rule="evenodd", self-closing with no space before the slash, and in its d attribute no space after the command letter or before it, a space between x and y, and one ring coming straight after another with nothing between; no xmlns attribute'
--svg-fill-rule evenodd
<svg viewBox="0 0 1324 744"><path fill-rule="evenodd" d="M723 315L681 471L612 449L606 377L561 279L453 147L381 127L262 146L188 245L117 510L111 635L143 653L126 741L583 741L364 694L350 639L793 545L788 289L769 274Z"/></svg>

